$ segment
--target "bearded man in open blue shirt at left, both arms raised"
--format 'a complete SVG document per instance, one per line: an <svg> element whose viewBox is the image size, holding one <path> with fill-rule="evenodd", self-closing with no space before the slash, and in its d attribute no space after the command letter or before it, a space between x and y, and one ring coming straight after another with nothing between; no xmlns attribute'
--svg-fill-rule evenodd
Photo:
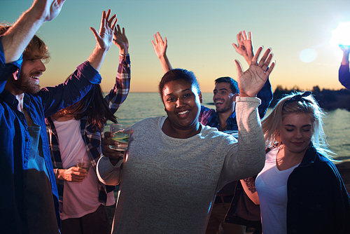
<svg viewBox="0 0 350 234"><path fill-rule="evenodd" d="M97 44L68 81L40 89L49 58L34 34L54 19L64 0L35 0L13 26L0 26L0 227L3 233L60 233L59 201L45 117L78 102L100 83L116 15L102 14ZM114 20L114 21L113 21Z"/></svg>

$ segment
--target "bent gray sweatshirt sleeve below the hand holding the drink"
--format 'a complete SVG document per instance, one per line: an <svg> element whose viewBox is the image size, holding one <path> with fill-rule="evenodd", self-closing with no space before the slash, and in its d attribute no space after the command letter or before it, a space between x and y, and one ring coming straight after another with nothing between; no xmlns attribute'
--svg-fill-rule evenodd
<svg viewBox="0 0 350 234"><path fill-rule="evenodd" d="M106 185L120 184L121 165L123 163L123 159L121 158L118 160L116 165L113 165L112 163L116 162L113 160L111 162L106 156L99 158L97 163L97 177L99 178L99 181Z"/></svg>

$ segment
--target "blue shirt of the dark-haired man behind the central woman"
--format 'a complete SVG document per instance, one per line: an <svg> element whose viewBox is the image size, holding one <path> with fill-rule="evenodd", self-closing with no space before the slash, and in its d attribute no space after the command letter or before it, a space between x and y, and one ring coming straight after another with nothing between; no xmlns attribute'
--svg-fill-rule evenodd
<svg viewBox="0 0 350 234"><path fill-rule="evenodd" d="M267 108L269 108L269 104L273 98L271 83L269 83L269 79L267 79L264 86L262 86L260 92L258 92L257 97L261 100L258 111L260 118L262 118L265 116ZM209 109L205 106L201 106L199 121L203 125L208 125L212 128L219 129L220 127L220 123L218 121L218 113L216 113L214 109ZM238 130L236 111L233 111L232 115L226 120L226 123L228 124L228 130Z"/></svg>

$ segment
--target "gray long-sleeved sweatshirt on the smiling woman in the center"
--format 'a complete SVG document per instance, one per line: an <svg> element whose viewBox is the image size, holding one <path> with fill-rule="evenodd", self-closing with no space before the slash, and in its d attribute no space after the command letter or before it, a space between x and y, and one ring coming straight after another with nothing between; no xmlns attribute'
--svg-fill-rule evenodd
<svg viewBox="0 0 350 234"><path fill-rule="evenodd" d="M104 156L97 165L103 183L120 183L113 233L205 233L216 193L264 166L259 104L237 99L238 142L204 125L188 139L169 137L162 132L166 117L134 124L123 170Z"/></svg>

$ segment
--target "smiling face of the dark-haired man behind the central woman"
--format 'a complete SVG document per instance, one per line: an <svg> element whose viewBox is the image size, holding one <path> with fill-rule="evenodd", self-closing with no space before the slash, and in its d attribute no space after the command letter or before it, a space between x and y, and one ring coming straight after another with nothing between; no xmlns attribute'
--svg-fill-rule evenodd
<svg viewBox="0 0 350 234"><path fill-rule="evenodd" d="M230 83L221 82L215 85L213 101L216 106L216 112L232 113L235 108L235 96L237 94L232 93Z"/></svg>

